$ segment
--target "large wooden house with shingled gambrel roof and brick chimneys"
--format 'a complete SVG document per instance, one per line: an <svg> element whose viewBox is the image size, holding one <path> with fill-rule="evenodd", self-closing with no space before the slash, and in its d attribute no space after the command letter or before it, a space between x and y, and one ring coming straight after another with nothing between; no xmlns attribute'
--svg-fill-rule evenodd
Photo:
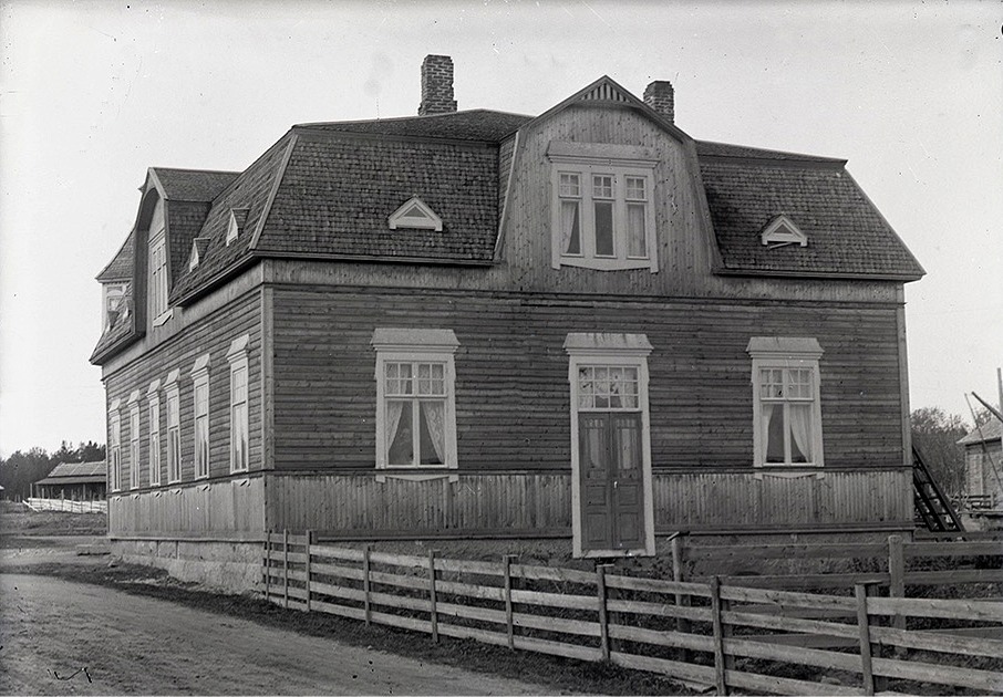
<svg viewBox="0 0 1003 697"><path fill-rule="evenodd" d="M695 141L668 82L538 116L452 82L430 55L417 116L147 171L91 357L116 549L249 584L269 529L585 558L911 529L923 270L845 160Z"/></svg>

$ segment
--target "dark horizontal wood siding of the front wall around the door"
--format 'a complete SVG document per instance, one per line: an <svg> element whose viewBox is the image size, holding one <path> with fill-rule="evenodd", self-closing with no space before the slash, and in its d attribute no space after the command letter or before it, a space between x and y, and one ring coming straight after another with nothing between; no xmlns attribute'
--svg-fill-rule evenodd
<svg viewBox="0 0 1003 697"><path fill-rule="evenodd" d="M654 346L656 469L751 467L751 336L814 336L826 464L902 462L895 306L593 301L555 297L275 289L280 469L371 469L375 327L452 329L463 470L570 465L568 332L637 332Z"/></svg>

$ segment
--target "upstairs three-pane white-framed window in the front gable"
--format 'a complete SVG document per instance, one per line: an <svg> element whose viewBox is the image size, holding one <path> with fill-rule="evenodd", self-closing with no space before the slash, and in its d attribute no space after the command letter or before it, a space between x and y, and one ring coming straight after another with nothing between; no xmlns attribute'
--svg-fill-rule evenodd
<svg viewBox="0 0 1003 697"><path fill-rule="evenodd" d="M552 142L551 266L658 271L656 156L645 148Z"/></svg>

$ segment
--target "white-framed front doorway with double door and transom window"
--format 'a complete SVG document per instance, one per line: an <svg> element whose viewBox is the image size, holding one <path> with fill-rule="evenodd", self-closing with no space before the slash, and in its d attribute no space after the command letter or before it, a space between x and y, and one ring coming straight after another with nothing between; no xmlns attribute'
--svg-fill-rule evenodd
<svg viewBox="0 0 1003 697"><path fill-rule="evenodd" d="M654 554L644 334L570 333L575 556Z"/></svg>

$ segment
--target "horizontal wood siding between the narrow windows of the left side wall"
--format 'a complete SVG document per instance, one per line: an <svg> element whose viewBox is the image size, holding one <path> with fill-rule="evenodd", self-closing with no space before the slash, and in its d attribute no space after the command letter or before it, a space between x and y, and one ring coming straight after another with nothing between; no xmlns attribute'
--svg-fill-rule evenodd
<svg viewBox="0 0 1003 697"><path fill-rule="evenodd" d="M105 375L107 404L122 400L122 483L130 485L130 468L135 467L130 451L128 396L139 391L139 489L149 488L149 412L146 391L154 379L161 381L161 488L167 482L167 392L164 382L173 370L179 371L178 399L182 441L182 481L195 478L195 395L192 368L209 354L209 477L225 477L230 471L230 366L226 354L230 342L249 335L248 422L250 468L261 469L261 290L252 290L216 312L192 323L185 332L159 344L127 365Z"/></svg>

